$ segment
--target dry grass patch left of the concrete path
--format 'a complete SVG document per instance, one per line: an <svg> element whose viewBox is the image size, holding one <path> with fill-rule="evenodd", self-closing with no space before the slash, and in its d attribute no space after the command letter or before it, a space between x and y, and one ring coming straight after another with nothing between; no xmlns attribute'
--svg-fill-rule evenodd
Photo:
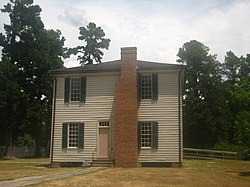
<svg viewBox="0 0 250 187"><path fill-rule="evenodd" d="M0 181L26 176L36 176L53 172L63 172L73 168L49 168L49 159L0 159ZM74 168L76 169L76 168ZM80 169L80 168L79 168Z"/></svg>

